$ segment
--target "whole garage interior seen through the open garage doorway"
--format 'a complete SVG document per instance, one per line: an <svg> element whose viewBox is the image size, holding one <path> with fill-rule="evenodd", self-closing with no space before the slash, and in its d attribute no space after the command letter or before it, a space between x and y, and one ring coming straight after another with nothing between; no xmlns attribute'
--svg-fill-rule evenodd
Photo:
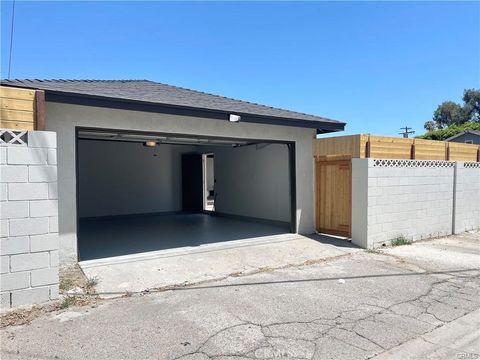
<svg viewBox="0 0 480 360"><path fill-rule="evenodd" d="M287 142L77 129L79 261L295 232Z"/></svg>

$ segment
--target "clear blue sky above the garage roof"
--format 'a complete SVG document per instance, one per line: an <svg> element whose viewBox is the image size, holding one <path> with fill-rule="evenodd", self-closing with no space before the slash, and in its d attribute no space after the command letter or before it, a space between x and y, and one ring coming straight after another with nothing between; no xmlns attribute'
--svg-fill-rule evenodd
<svg viewBox="0 0 480 360"><path fill-rule="evenodd" d="M7 77L11 2L1 4ZM12 78L150 79L417 134L480 88L479 2L16 3Z"/></svg>

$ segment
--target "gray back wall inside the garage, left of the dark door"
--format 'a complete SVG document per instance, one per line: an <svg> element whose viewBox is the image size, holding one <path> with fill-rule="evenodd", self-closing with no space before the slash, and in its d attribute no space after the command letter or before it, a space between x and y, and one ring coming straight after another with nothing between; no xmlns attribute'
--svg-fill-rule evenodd
<svg viewBox="0 0 480 360"><path fill-rule="evenodd" d="M80 217L182 209L181 156L195 146L80 140L78 148Z"/></svg>

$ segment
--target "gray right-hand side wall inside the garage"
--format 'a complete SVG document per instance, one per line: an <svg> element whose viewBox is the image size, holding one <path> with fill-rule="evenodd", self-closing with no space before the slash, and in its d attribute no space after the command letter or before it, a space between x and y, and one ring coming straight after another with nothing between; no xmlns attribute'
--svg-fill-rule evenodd
<svg viewBox="0 0 480 360"><path fill-rule="evenodd" d="M290 222L287 145L219 148L214 154L216 211Z"/></svg>

